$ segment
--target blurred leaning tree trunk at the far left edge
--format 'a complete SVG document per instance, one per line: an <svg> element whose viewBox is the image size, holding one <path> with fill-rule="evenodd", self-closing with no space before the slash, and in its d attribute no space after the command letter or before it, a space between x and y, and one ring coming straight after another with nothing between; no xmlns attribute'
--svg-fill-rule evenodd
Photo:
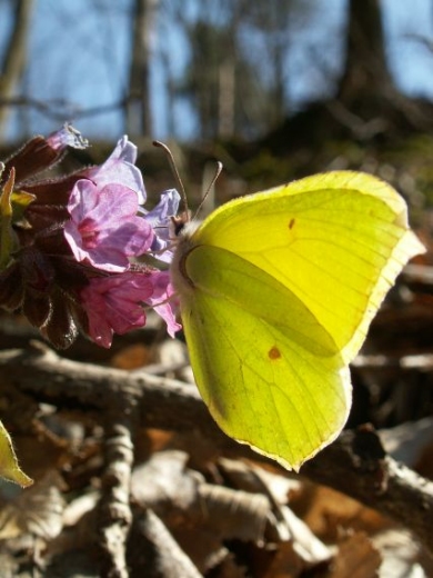
<svg viewBox="0 0 433 578"><path fill-rule="evenodd" d="M0 101L8 101L17 92L27 63L27 43L33 0L14 0L14 16L0 74ZM0 141L6 132L11 107L0 102Z"/></svg>

